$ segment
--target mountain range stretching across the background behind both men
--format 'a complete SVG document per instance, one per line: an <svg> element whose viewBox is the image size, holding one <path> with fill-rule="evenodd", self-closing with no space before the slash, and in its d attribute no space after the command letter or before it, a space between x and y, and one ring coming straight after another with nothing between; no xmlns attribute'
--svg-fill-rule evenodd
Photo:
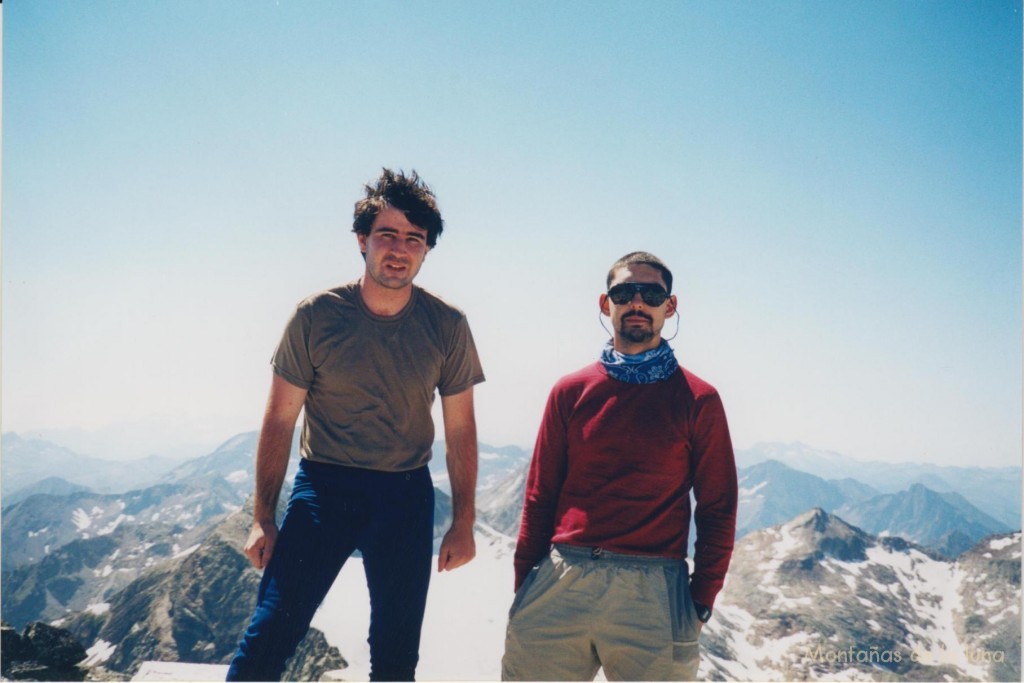
<svg viewBox="0 0 1024 683"><path fill-rule="evenodd" d="M8 458L8 444L14 458ZM136 472L123 481L141 485L121 492L83 488L104 472L123 472L116 465L104 470L109 463L85 461L92 472L83 477L79 457L54 444L6 434L3 445L4 480L22 483L20 494L12 494L19 500L5 496L3 507L4 621L18 629L37 620L62 624L89 648L94 665L117 675L130 676L144 659L226 661L258 581L241 554L251 515L245 506L253 488L255 432L202 458L155 467L147 480ZM33 462L34 450L49 464L46 476ZM478 552L487 562L508 562L529 454L484 444L480 453ZM767 453L787 462L761 458ZM877 485L885 475L874 468L886 465L867 473L841 456L822 458L827 466L814 466L813 452L799 444L740 455L746 463L738 472L740 538L706 630L702 672L734 680L1019 680L1020 533L961 492L973 484L936 490L912 482L893 490L892 481ZM296 464L293 452L290 471ZM840 476L824 478L796 464ZM900 481L910 481L913 468L896 467ZM928 475L935 485L966 484L948 481L948 468L921 468L919 478ZM431 469L436 550L451 519L443 444L436 444ZM954 469L984 480L1020 476L1019 469ZM851 472L858 476L846 476ZM1010 498L998 490L992 498ZM1019 488L1016 501L1019 506ZM495 581L500 585L481 585L474 593L475 600L495 601L492 625L504 618L511 598L508 578ZM294 680L344 666L344 652L332 650L334 637L325 631L307 639L291 670ZM844 643L846 655L839 647ZM909 657L915 649L933 659L943 652L967 654L939 665L843 660L865 644L867 657L872 651ZM489 641L479 645L482 653L490 647ZM972 659L994 651L1005 653L1001 663ZM495 656L500 659L500 651Z"/></svg>

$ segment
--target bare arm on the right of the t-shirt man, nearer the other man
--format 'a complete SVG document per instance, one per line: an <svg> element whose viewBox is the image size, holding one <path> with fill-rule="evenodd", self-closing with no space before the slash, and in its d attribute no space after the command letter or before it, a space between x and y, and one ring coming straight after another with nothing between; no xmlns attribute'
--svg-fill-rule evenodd
<svg viewBox="0 0 1024 683"><path fill-rule="evenodd" d="M476 417L473 387L441 396L444 445L452 482L452 527L441 541L437 570L455 569L476 555L473 522L476 521Z"/></svg>

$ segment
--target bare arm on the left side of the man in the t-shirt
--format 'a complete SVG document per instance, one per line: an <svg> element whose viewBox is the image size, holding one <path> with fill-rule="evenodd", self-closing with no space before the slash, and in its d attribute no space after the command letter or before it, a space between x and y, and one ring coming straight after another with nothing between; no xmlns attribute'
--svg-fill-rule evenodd
<svg viewBox="0 0 1024 683"><path fill-rule="evenodd" d="M253 528L245 547L246 556L257 569L262 569L270 561L278 540L278 499L288 471L295 422L305 399L305 389L273 375L256 445Z"/></svg>

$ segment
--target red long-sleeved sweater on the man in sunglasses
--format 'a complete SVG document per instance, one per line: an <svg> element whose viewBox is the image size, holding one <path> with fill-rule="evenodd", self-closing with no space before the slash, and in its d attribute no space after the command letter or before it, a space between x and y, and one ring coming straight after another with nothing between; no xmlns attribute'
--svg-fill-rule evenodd
<svg viewBox="0 0 1024 683"><path fill-rule="evenodd" d="M736 466L718 392L682 368L653 384L611 379L600 362L563 377L526 480L516 589L552 543L684 559L691 488L690 589L711 607L736 530Z"/></svg>

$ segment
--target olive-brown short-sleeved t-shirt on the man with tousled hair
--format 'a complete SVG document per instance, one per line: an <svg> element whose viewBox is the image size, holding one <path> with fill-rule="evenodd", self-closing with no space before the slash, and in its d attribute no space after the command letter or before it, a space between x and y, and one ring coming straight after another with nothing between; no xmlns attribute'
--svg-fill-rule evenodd
<svg viewBox="0 0 1024 683"><path fill-rule="evenodd" d="M449 396L483 381L466 315L415 286L389 317L370 312L357 282L314 294L271 365L308 391L303 458L388 472L430 460L435 389Z"/></svg>

